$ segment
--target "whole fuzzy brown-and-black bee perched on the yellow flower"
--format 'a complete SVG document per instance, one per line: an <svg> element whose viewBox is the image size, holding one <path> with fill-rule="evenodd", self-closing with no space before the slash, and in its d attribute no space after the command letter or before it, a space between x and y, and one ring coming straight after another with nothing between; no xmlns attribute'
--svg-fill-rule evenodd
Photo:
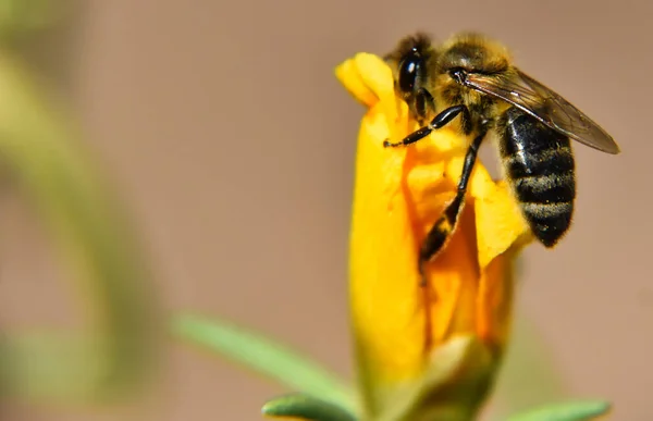
<svg viewBox="0 0 653 421"><path fill-rule="evenodd" d="M402 40L385 60L397 95L421 128L398 143L386 140L384 147L415 144L458 116L459 131L471 139L456 196L420 246L422 284L424 264L456 230L477 152L491 133L498 139L506 181L531 232L546 248L554 247L569 228L576 198L570 139L616 154L619 147L613 138L517 69L503 45L482 35L464 33L435 46L418 34Z"/></svg>

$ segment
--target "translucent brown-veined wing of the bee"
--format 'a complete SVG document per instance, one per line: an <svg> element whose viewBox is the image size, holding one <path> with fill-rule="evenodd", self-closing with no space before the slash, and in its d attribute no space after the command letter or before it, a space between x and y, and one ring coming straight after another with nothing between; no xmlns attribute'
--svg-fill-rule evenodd
<svg viewBox="0 0 653 421"><path fill-rule="evenodd" d="M549 127L594 149L619 153L619 147L599 124L538 81L516 70L509 75L469 73L466 85L492 95L534 116Z"/></svg>

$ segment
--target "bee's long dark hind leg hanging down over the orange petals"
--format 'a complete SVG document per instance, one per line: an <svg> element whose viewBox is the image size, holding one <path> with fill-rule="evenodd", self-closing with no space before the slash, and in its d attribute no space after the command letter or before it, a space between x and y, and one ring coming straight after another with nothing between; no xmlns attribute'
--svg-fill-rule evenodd
<svg viewBox="0 0 653 421"><path fill-rule="evenodd" d="M465 163L463 164L463 173L458 181L458 188L454 200L447 205L442 215L438 219L435 224L431 227L419 250L419 262L418 269L421 277L421 286L427 285L427 278L424 269L428 262L435 259L435 257L444 249L444 246L451 239L456 225L458 223L458 216L463 212L465 207L465 194L467 193L467 184L473 170L473 164L477 159L479 147L485 137L485 132L482 132L477 136L465 154Z"/></svg>

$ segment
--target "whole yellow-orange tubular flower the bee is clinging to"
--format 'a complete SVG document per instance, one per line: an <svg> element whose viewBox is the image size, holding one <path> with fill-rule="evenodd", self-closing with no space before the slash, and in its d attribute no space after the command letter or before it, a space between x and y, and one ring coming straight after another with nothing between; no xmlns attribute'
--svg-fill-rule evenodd
<svg viewBox="0 0 653 421"><path fill-rule="evenodd" d="M468 140L445 127L410 147L384 148L418 128L395 96L391 69L359 53L336 75L368 108L349 261L364 417L469 420L507 342L510 263L530 231L507 186L477 162L457 231L421 287L418 248L455 195Z"/></svg>

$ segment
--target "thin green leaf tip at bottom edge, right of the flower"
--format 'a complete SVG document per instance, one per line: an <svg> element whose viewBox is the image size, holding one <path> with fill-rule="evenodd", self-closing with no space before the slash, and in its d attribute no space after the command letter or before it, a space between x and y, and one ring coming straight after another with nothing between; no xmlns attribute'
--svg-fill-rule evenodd
<svg viewBox="0 0 653 421"><path fill-rule="evenodd" d="M558 404L513 416L508 421L589 421L609 409L609 403L602 400Z"/></svg>

